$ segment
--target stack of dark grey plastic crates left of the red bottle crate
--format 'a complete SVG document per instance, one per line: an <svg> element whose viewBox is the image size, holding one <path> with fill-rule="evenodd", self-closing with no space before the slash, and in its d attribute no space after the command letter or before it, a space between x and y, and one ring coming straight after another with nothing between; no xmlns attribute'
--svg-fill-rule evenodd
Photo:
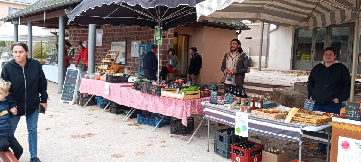
<svg viewBox="0 0 361 162"><path fill-rule="evenodd" d="M220 129L214 133L214 153L229 159L231 158L231 144L248 140L234 134L234 128Z"/></svg>

